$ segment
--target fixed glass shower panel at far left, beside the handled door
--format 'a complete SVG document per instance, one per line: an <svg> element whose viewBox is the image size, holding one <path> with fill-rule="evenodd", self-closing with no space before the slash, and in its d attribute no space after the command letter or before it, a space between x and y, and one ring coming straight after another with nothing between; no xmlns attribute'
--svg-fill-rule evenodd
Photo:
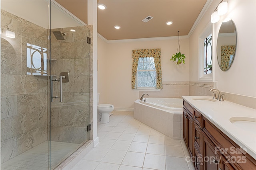
<svg viewBox="0 0 256 170"><path fill-rule="evenodd" d="M1 0L1 170L49 168L48 5Z"/></svg>

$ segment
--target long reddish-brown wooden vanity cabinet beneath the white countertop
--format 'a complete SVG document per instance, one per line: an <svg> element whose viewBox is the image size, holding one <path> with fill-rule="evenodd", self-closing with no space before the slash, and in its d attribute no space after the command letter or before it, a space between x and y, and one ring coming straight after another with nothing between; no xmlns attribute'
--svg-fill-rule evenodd
<svg viewBox="0 0 256 170"><path fill-rule="evenodd" d="M183 100L183 138L196 170L256 170L256 160Z"/></svg>

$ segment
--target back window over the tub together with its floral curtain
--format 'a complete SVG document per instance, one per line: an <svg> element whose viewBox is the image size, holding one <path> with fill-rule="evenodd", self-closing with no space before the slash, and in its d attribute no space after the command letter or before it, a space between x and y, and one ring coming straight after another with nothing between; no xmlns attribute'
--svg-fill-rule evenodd
<svg viewBox="0 0 256 170"><path fill-rule="evenodd" d="M132 51L132 89L162 89L160 49Z"/></svg>

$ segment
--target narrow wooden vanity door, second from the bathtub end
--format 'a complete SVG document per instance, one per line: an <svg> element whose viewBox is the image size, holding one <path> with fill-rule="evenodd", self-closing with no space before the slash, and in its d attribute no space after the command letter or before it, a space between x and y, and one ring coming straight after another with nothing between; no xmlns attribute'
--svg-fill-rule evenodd
<svg viewBox="0 0 256 170"><path fill-rule="evenodd" d="M194 120L188 114L188 152L190 156L194 155Z"/></svg>

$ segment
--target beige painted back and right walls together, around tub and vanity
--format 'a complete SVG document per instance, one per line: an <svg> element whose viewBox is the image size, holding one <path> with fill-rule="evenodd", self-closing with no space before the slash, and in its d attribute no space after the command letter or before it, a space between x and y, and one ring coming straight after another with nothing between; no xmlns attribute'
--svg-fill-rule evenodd
<svg viewBox="0 0 256 170"><path fill-rule="evenodd" d="M253 103L256 101L256 21L253 19L256 18L256 1L228 1L228 13L221 16L219 22L211 24L210 15L218 3L219 1L213 1L196 25L192 35L188 39L180 40L181 51L187 56L185 65L176 66L170 61L171 55L177 49L177 39L106 43L98 38L100 42L98 44L99 65L106 69L100 70L101 68L99 68L98 71L98 83L102 83L104 80L104 85L98 84L98 92L104 92L101 95L103 100L100 100L100 103L110 103L120 108L133 108L133 102L138 99L139 92L131 89L132 49L161 48L163 82L189 81L190 95L211 95L208 90L212 88L213 83L210 83L211 85L208 87L209 83L198 82L198 37L207 25L214 25L213 43L216 46L220 25L224 18L229 16L236 25L238 36L236 56L231 68L223 72L218 66L216 53L214 54L214 80L217 81L218 89L226 95L224 98L247 106L241 101L244 96L250 96L246 101L252 103L248 107L254 108L255 104ZM101 54L101 50L104 51L104 56ZM104 65L100 64L101 62L104 62Z"/></svg>

